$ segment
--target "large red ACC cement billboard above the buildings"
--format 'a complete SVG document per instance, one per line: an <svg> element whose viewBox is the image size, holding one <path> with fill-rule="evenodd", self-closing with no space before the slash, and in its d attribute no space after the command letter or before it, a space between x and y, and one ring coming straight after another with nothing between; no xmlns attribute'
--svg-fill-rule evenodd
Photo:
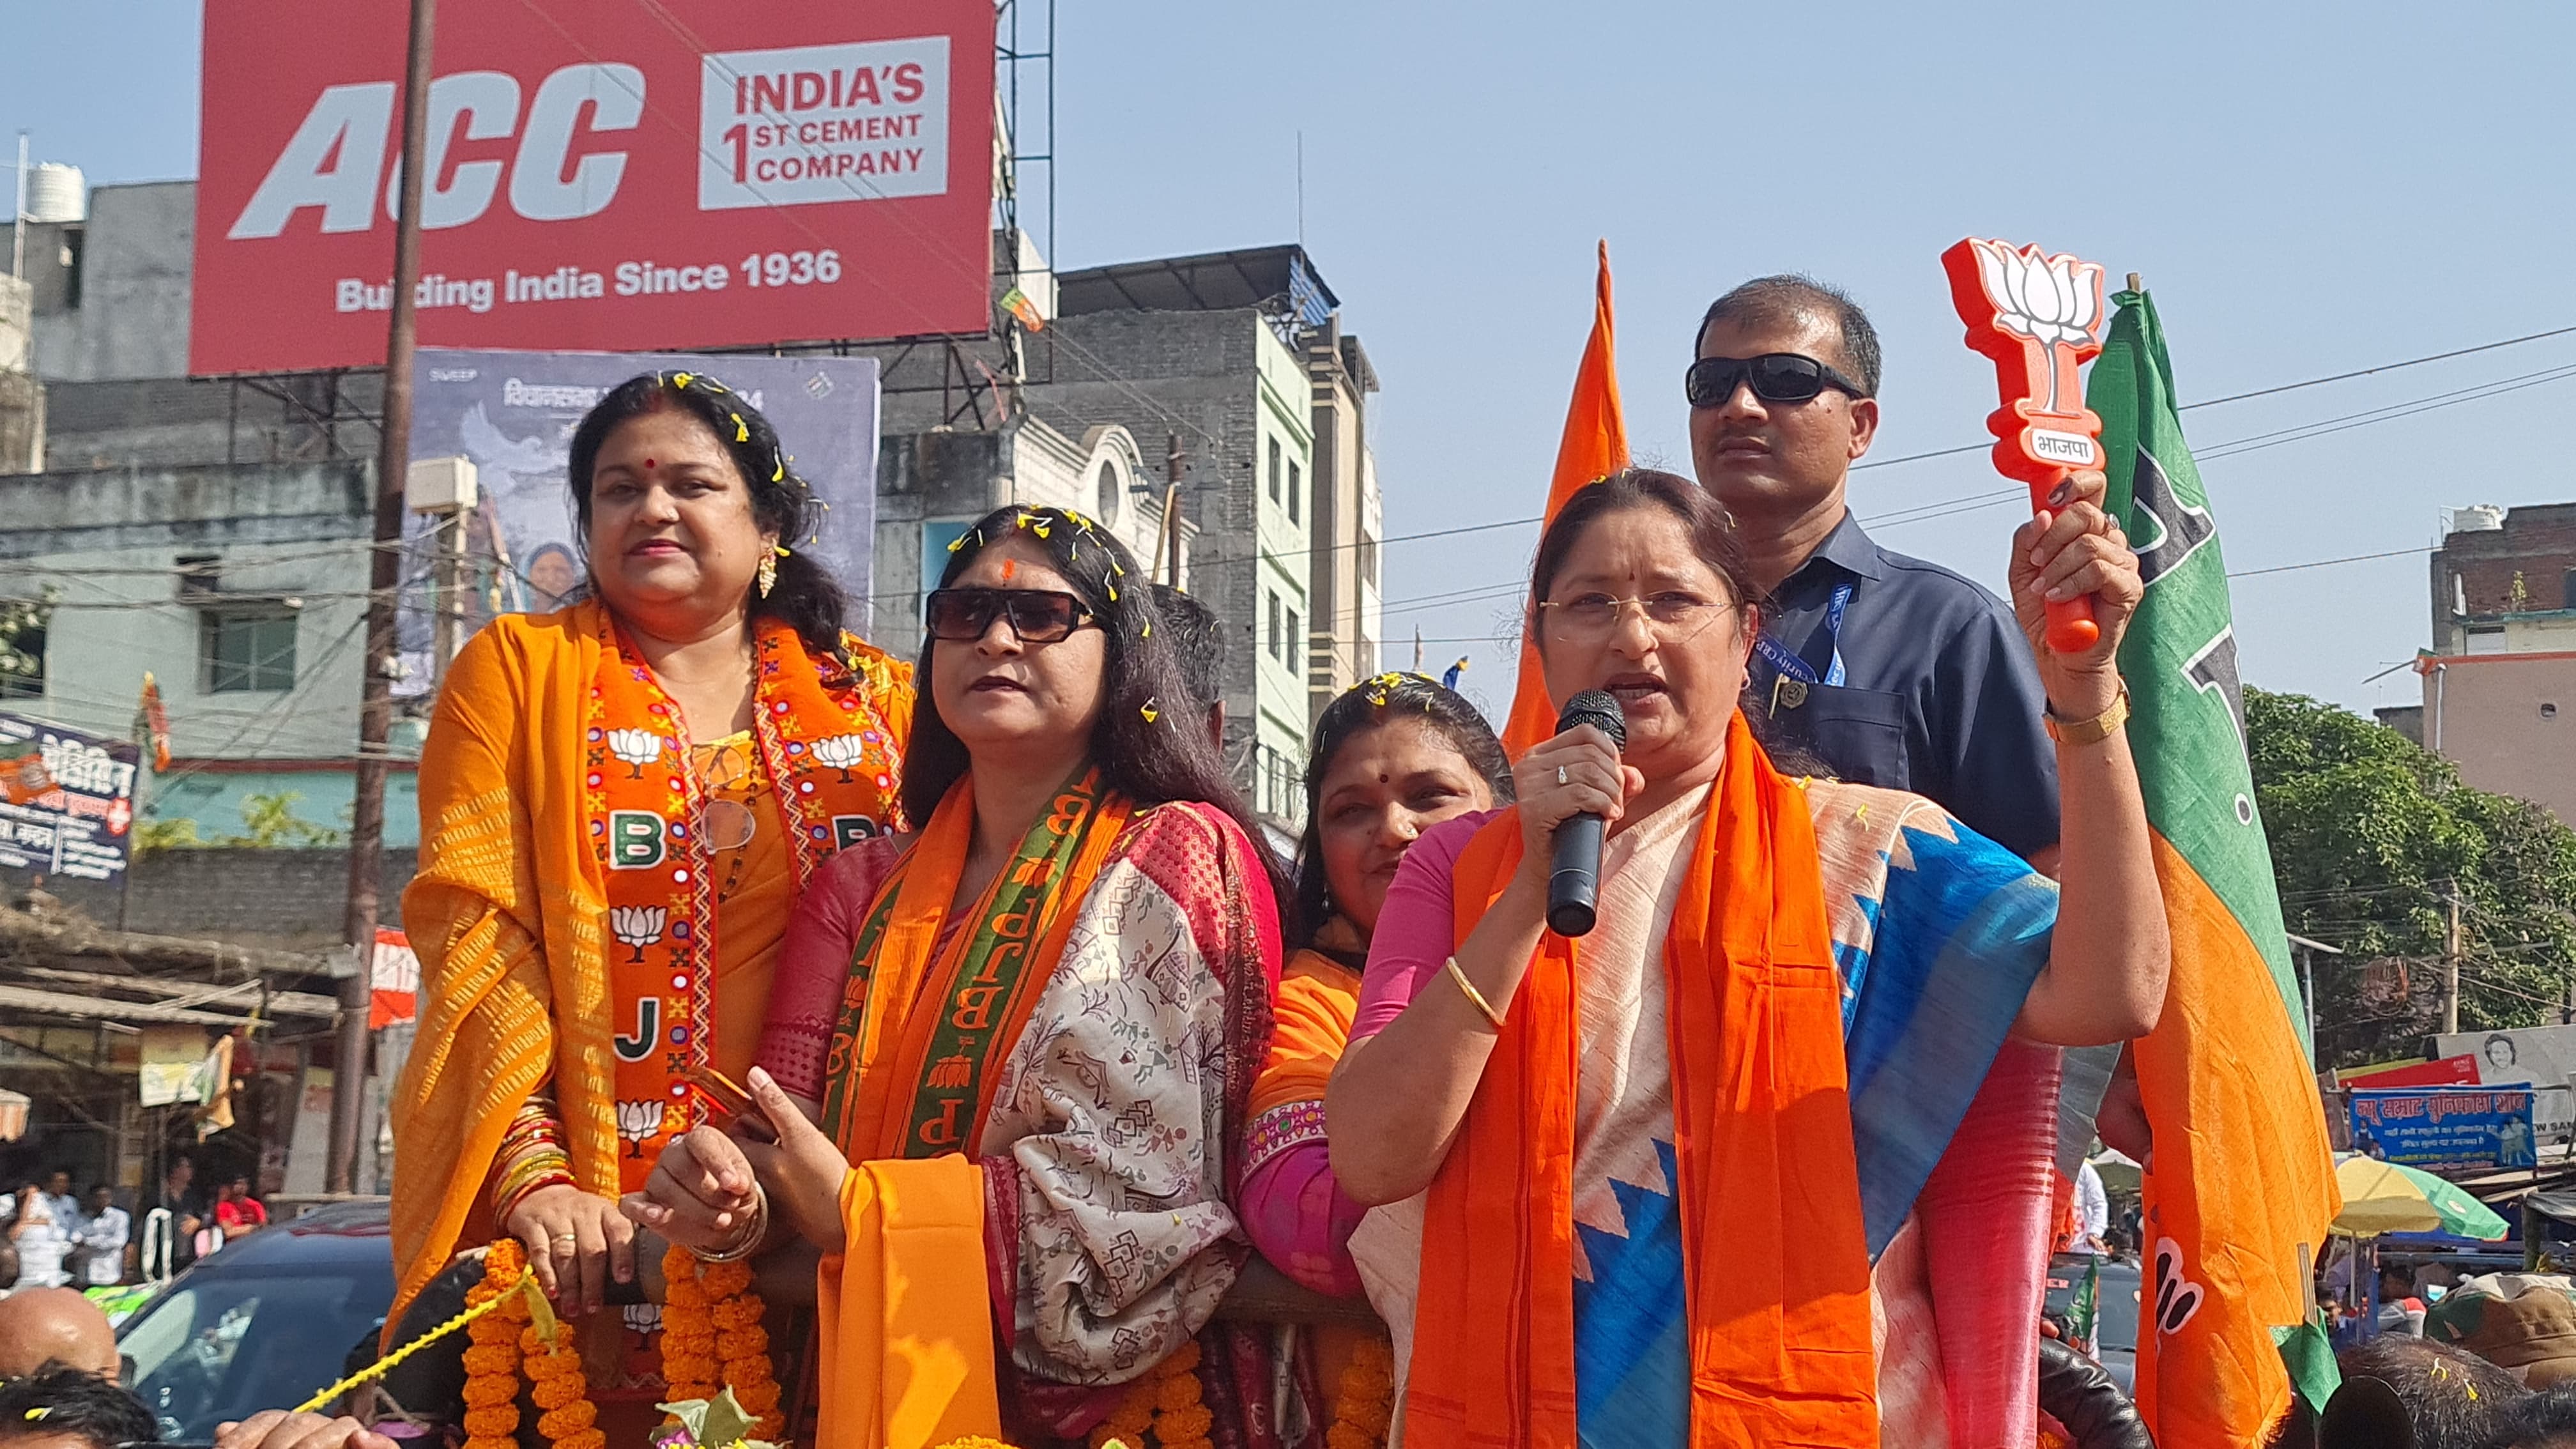
<svg viewBox="0 0 2576 1449"><path fill-rule="evenodd" d="M384 364L407 5L206 0L193 374ZM992 0L443 0L420 343L981 333Z"/></svg>

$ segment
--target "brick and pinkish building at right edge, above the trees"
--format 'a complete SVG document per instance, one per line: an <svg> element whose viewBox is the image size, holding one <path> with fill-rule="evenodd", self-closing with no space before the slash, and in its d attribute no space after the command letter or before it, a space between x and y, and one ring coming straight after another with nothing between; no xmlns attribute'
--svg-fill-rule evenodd
<svg viewBox="0 0 2576 1449"><path fill-rule="evenodd" d="M2432 554L2432 624L2414 737L2576 822L2576 503L2460 508Z"/></svg>

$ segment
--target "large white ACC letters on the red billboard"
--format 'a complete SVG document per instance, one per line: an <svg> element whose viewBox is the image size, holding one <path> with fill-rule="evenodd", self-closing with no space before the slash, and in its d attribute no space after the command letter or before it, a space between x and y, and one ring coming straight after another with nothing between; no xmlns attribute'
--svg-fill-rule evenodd
<svg viewBox="0 0 2576 1449"><path fill-rule="evenodd" d="M587 124L582 113L590 113ZM549 75L520 124L518 77L497 70L440 75L430 83L430 131L420 224L438 232L482 219L510 175L510 209L531 222L595 217L618 196L626 152L572 155L577 131L631 131L644 119L644 72L631 64L567 64ZM376 196L392 217L402 165L386 165L394 129L394 83L332 85L314 98L268 178L242 206L229 240L276 237L307 206L322 209L322 232L366 232ZM469 160L448 170L448 142L518 137L510 162ZM392 173L392 175L386 175Z"/></svg>

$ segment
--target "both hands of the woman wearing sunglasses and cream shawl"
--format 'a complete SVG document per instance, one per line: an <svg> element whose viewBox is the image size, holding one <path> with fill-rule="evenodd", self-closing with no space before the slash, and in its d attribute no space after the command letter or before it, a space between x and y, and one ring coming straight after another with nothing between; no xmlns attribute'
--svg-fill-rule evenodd
<svg viewBox="0 0 2576 1449"><path fill-rule="evenodd" d="M824 1253L840 1253L840 1183L850 1160L765 1070L752 1067L744 1085L775 1142L760 1142L744 1132L747 1124L734 1124L732 1134L693 1127L662 1150L644 1191L626 1194L618 1207L683 1248L721 1253L742 1245L757 1181L788 1227Z"/></svg>

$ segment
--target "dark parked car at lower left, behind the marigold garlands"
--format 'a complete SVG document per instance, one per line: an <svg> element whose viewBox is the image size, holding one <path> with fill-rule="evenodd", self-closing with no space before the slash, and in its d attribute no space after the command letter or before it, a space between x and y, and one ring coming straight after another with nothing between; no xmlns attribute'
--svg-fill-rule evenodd
<svg viewBox="0 0 2576 1449"><path fill-rule="evenodd" d="M294 1408L376 1356L394 1302L384 1199L337 1201L198 1258L116 1333L170 1444Z"/></svg>

